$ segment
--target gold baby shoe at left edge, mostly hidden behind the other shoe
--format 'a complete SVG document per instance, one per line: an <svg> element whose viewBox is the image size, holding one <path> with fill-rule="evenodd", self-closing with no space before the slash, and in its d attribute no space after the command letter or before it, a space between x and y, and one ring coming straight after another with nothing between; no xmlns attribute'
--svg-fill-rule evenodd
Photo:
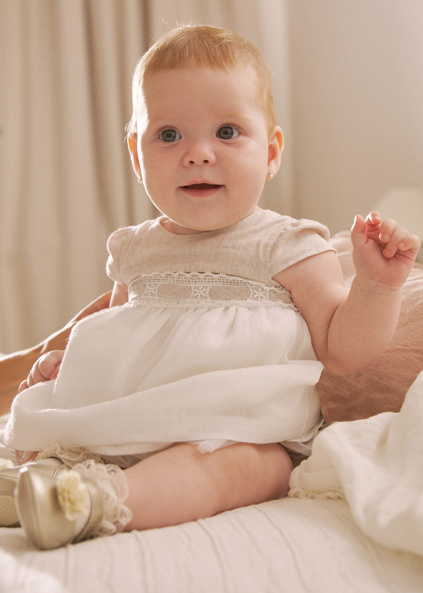
<svg viewBox="0 0 423 593"><path fill-rule="evenodd" d="M56 476L62 470L62 461L55 460L57 464L30 463L26 466L13 467L11 461L0 469L0 527L19 527L19 518L16 511L14 492L22 467L37 467L37 471L49 476Z"/></svg>

